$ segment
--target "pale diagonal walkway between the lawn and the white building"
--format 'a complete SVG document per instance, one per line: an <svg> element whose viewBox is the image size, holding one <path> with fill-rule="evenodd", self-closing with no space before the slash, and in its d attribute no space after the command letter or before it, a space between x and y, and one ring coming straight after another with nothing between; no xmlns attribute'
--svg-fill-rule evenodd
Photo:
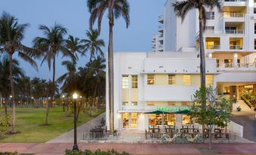
<svg viewBox="0 0 256 155"><path fill-rule="evenodd" d="M79 126L77 128L77 141L82 141L83 133L85 131L89 132L90 129L93 128L94 126L99 126L101 118L105 119L105 117L106 117L105 113L100 114L99 116L95 117L92 120L89 120L82 126ZM57 138L47 141L46 143L72 143L72 141L74 141L74 130L73 129L69 132L64 133L63 135L60 135Z"/></svg>

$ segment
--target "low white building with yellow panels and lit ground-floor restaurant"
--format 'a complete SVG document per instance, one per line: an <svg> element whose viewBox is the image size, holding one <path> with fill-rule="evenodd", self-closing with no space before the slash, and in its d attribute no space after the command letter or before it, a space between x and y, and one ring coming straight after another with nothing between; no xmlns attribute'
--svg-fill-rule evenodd
<svg viewBox="0 0 256 155"><path fill-rule="evenodd" d="M216 86L215 59L206 59L206 64L206 83ZM114 53L115 129L144 131L149 125L162 124L162 114L145 113L159 108L169 112L189 108L193 93L200 87L199 72L195 52ZM106 89L106 109L107 95ZM165 114L165 125L181 128L187 123L187 114Z"/></svg>

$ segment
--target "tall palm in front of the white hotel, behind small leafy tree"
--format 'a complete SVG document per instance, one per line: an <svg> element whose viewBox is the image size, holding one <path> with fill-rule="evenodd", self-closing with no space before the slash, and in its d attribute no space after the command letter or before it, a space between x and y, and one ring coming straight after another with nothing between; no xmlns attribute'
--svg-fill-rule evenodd
<svg viewBox="0 0 256 155"><path fill-rule="evenodd" d="M201 76L201 88L205 90L205 46L203 41L203 32L205 30L206 23L206 8L211 10L215 7L221 8L220 0L184 0L177 1L172 4L177 17L180 17L183 21L187 13L193 9L199 11L199 41L200 41L200 76ZM206 106L206 93L202 93L202 104Z"/></svg>

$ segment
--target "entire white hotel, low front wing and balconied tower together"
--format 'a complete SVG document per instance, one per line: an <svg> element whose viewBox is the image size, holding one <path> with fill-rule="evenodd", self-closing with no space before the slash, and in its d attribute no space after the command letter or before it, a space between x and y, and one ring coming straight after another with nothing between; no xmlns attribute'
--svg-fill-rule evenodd
<svg viewBox="0 0 256 155"><path fill-rule="evenodd" d="M161 125L162 117L145 114L157 108L187 108L200 86L199 20L190 11L181 23L165 3L151 53L114 53L114 126L116 130L145 130ZM255 13L255 14L254 14ZM206 83L220 94L240 99L242 90L256 93L256 2L224 0L221 11L207 12L203 34ZM107 76L106 76L107 78ZM106 79L106 88L108 80ZM106 124L109 128L108 90ZM165 125L190 123L186 114L165 114Z"/></svg>

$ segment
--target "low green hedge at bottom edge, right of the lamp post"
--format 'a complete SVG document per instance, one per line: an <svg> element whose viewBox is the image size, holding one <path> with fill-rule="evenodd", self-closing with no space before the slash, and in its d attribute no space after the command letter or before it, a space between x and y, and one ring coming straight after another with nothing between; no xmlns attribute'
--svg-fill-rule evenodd
<svg viewBox="0 0 256 155"><path fill-rule="evenodd" d="M77 151L77 150L66 150L65 154L66 155L129 155L129 153L126 153L126 152L119 153L114 149L107 150L107 151L100 150L100 149L95 150L95 151L91 151L91 150L85 150L85 151L82 151L82 150L79 150L79 151Z"/></svg>

